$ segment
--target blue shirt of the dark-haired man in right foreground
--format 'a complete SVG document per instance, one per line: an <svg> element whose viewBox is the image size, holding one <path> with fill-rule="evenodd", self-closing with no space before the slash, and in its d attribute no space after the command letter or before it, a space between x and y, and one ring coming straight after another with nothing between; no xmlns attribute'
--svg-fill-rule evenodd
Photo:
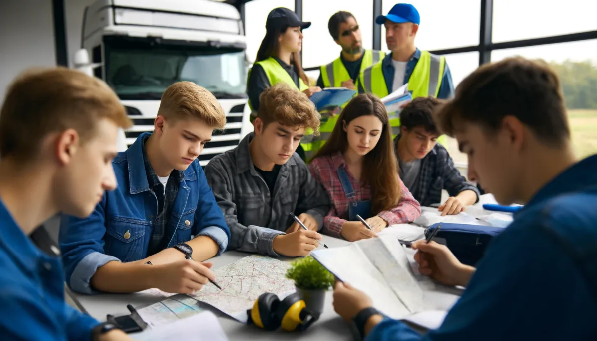
<svg viewBox="0 0 597 341"><path fill-rule="evenodd" d="M444 323L386 319L367 340L597 340L597 155L556 176L494 238Z"/></svg>

